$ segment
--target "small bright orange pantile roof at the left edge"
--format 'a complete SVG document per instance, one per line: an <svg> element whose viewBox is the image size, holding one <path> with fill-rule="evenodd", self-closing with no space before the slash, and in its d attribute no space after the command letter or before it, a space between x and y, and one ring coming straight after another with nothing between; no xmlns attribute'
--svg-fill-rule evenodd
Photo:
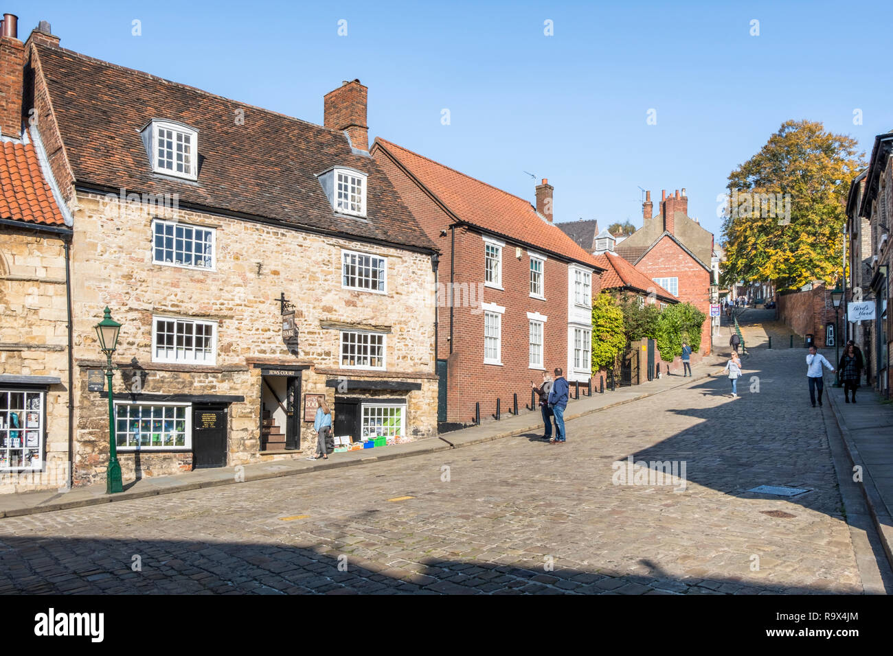
<svg viewBox="0 0 893 656"><path fill-rule="evenodd" d="M64 226L34 145L13 141L0 145L0 219Z"/></svg>

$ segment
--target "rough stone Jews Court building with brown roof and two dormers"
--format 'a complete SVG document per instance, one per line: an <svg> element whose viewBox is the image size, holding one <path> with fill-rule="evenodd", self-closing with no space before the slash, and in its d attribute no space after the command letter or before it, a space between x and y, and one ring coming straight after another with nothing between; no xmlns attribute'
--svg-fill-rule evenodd
<svg viewBox="0 0 893 656"><path fill-rule="evenodd" d="M319 126L49 31L24 106L73 214L74 484L108 461L106 306L125 480L306 454L320 397L338 437L435 435L438 253L368 152L366 87L326 95Z"/></svg>

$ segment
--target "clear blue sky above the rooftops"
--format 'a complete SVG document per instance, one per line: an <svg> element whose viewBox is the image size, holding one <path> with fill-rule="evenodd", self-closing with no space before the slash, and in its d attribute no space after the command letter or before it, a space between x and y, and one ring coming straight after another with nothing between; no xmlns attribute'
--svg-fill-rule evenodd
<svg viewBox="0 0 893 656"><path fill-rule="evenodd" d="M783 121L820 120L869 154L893 128L893 4L778 5L38 0L4 11L22 40L46 20L63 47L316 123L322 95L359 78L371 137L531 201L524 171L547 178L557 221L639 226L639 187L655 201L686 187L689 214L719 238L730 170Z"/></svg>

